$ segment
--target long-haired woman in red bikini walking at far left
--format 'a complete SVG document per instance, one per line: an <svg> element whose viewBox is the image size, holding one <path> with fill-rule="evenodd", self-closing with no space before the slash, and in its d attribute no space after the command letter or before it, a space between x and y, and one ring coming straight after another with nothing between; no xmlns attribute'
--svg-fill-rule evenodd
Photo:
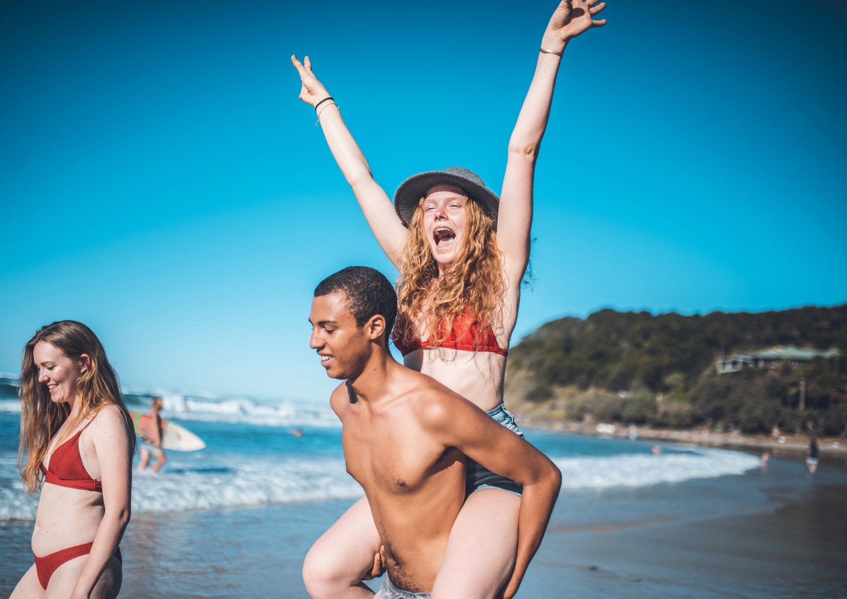
<svg viewBox="0 0 847 599"><path fill-rule="evenodd" d="M116 597L136 436L97 336L72 320L39 330L24 350L19 396L20 474L42 494L35 563L11 599Z"/></svg>

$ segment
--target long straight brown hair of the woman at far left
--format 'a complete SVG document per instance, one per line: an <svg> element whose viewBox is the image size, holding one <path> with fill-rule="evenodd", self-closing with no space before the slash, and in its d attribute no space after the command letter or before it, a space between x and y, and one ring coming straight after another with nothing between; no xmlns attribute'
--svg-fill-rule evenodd
<svg viewBox="0 0 847 599"><path fill-rule="evenodd" d="M69 423L61 443L71 430L84 419L105 406L117 406L124 416L127 432L135 451L136 434L130 413L126 409L120 392L118 376L106 358L100 340L85 324L74 320L61 320L42 327L27 341L24 359L20 368L18 396L20 399L20 444L18 446L18 468L26 490L38 491L42 477L38 465L44 460L50 440L64 424L70 414L67 403L54 403L50 399L47 385L38 382L38 368L32 352L36 344L46 341L56 347L65 357L82 361L82 354L89 358L86 372L76 380L76 395L79 397L80 412Z"/></svg>

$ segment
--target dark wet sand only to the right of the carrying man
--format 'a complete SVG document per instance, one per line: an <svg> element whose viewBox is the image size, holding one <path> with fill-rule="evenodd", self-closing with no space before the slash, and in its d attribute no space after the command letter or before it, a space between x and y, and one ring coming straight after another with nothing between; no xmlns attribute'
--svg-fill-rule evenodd
<svg viewBox="0 0 847 599"><path fill-rule="evenodd" d="M556 530L518 596L847 597L847 486L772 513Z"/></svg>

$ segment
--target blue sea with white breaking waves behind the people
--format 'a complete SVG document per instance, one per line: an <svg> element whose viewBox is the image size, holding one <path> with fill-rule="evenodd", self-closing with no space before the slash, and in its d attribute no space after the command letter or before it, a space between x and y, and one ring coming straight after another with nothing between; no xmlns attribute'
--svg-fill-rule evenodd
<svg viewBox="0 0 847 599"><path fill-rule="evenodd" d="M130 410L146 412L151 398L140 392L126 394ZM162 472L136 474L135 514L355 499L363 494L346 474L340 424L328 405L167 394L163 404L163 418L200 435L207 447L167 452ZM18 427L17 398L0 399L0 521L34 519L36 514L37 497L25 494L17 471ZM722 449L668 445L656 456L647 441L540 430L528 437L562 470L563 489L576 495L741 474L758 465L748 454Z"/></svg>

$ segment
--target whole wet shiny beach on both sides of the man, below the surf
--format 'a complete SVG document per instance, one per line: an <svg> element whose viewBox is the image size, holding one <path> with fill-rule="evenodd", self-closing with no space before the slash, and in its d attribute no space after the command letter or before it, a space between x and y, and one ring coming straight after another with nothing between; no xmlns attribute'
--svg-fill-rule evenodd
<svg viewBox="0 0 847 599"><path fill-rule="evenodd" d="M349 500L141 513L122 597L307 597L302 558ZM689 509L689 507L691 507ZM518 597L847 597L847 469L767 469L565 491ZM31 564L31 521L0 523L0 595Z"/></svg>

